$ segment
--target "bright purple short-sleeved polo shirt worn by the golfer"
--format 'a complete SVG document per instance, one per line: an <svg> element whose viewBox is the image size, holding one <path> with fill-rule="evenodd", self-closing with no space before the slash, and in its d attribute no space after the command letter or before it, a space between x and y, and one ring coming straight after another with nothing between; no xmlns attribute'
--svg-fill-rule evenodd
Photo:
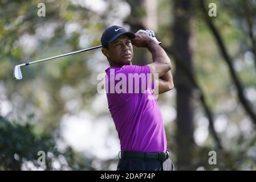
<svg viewBox="0 0 256 182"><path fill-rule="evenodd" d="M122 151L165 152L166 136L147 65L124 65L105 70L108 109Z"/></svg>

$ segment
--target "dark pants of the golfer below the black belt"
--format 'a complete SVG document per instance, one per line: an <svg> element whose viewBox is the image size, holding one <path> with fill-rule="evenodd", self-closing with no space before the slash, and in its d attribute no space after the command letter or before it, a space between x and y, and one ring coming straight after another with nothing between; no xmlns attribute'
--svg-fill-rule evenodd
<svg viewBox="0 0 256 182"><path fill-rule="evenodd" d="M172 160L119 159L117 171L175 171Z"/></svg>

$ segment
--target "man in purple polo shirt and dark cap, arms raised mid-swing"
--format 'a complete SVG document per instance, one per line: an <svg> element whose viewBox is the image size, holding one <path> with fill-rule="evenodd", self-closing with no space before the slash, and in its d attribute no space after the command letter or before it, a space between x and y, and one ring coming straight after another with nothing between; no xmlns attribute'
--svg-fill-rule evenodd
<svg viewBox="0 0 256 182"><path fill-rule="evenodd" d="M105 70L108 108L121 144L117 170L174 170L154 94L157 85L159 94L173 88L172 65L155 32L133 34L111 26L103 32L101 45L110 66ZM132 46L147 48L153 63L132 65Z"/></svg>

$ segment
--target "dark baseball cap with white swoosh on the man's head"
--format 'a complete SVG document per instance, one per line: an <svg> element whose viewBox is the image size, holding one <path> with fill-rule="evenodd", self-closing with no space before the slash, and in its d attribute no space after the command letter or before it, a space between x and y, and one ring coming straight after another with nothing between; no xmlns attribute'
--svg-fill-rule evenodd
<svg viewBox="0 0 256 182"><path fill-rule="evenodd" d="M134 39L136 37L132 32L128 32L123 27L113 25L108 27L102 34L100 42L102 47L105 47L107 43L111 43L115 41L120 35L126 34L130 39Z"/></svg>

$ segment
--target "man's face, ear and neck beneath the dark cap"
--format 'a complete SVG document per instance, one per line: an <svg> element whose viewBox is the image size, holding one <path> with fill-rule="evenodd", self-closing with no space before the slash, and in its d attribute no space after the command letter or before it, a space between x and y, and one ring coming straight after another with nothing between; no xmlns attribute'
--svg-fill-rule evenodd
<svg viewBox="0 0 256 182"><path fill-rule="evenodd" d="M132 64L133 48L127 35L119 36L114 42L108 43L108 49L103 49L102 52L108 57L111 66L122 67Z"/></svg>

